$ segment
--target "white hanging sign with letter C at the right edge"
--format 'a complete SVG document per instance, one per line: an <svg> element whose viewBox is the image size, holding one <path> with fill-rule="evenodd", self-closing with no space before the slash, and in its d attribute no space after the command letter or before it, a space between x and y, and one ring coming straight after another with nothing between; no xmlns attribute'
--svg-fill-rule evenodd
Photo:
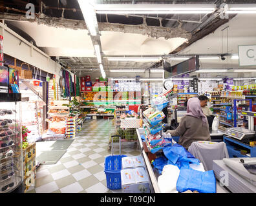
<svg viewBox="0 0 256 206"><path fill-rule="evenodd" d="M256 66L256 45L239 46L239 65Z"/></svg>

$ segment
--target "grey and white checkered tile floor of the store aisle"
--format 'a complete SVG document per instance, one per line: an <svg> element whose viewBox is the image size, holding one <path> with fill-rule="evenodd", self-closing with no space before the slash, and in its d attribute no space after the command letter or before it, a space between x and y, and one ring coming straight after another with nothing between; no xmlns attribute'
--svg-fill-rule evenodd
<svg viewBox="0 0 256 206"><path fill-rule="evenodd" d="M109 193L104 173L105 157L111 155L108 120L87 120L78 137L57 164L41 165L36 186L27 193ZM119 154L114 145L114 154ZM122 145L122 154L140 154L134 143Z"/></svg>

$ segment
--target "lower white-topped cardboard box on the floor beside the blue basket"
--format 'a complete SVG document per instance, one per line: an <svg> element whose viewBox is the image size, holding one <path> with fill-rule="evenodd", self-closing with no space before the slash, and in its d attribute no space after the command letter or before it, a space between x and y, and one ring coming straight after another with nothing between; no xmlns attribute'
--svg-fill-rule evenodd
<svg viewBox="0 0 256 206"><path fill-rule="evenodd" d="M150 193L149 178L144 167L121 170L123 193Z"/></svg>

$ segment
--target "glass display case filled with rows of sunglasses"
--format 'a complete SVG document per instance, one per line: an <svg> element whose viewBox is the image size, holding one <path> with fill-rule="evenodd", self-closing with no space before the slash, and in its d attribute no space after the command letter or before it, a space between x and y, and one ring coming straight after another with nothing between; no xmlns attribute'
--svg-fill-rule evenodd
<svg viewBox="0 0 256 206"><path fill-rule="evenodd" d="M0 193L23 184L21 94L0 93Z"/></svg>

